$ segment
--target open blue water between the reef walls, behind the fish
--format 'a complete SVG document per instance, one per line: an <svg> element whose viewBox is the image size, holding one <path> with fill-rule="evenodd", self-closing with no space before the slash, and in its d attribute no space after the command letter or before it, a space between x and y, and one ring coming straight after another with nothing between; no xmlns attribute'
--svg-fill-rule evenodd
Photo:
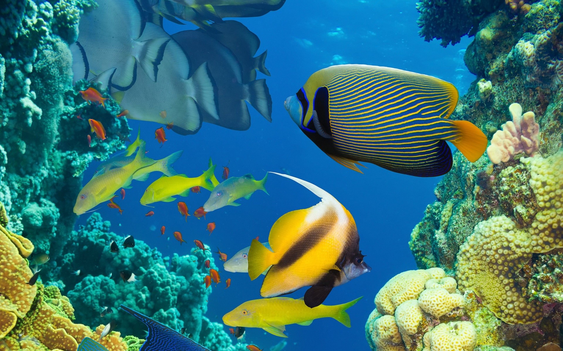
<svg viewBox="0 0 563 351"><path fill-rule="evenodd" d="M302 0L287 3L275 12L256 18L239 19L261 39L261 53L268 50L266 67L271 72L267 85L273 101L272 122L266 121L251 108L252 126L247 131L233 131L203 124L195 135L181 136L168 131L168 142L161 148L154 139L158 125L129 120L135 138L138 127L147 141L148 156L166 157L183 150L175 169L188 176L198 176L207 169L209 157L222 167L229 165L231 176L251 173L262 179L266 171L288 172L310 181L334 195L354 216L360 234L360 249L372 271L343 286L335 288L324 304L341 304L357 297L364 298L350 308L352 327L347 329L330 318L315 320L310 326L288 326L286 350L368 350L364 324L373 310L373 298L392 276L415 269L408 247L410 232L423 216L427 204L434 201L433 189L439 178L419 178L396 174L368 164L364 174L348 170L332 161L298 129L284 109L283 101L301 88L313 72L341 63L364 63L434 75L452 82L460 94L474 77L463 64L463 49L468 40L454 47L443 48L438 42L427 43L418 37L415 1L382 0ZM195 28L166 22L169 34ZM258 73L258 75L261 75ZM90 179L98 163L93 162L84 174ZM211 212L207 218L187 218L177 210L177 202L141 206L142 192L151 181L133 181L126 198L119 204L120 216L114 209L99 209L104 220L112 223L118 234L132 234L136 239L157 247L164 256L187 254L198 239L213 250L220 248L229 256L260 236L266 241L271 225L284 213L307 208L319 199L291 180L270 175L266 189L270 195L256 192L249 200L241 199L239 207L227 206ZM193 213L203 205L209 192L190 194L183 199ZM145 217L148 211L152 217ZM84 224L82 215L77 225ZM216 230L208 235L208 222L216 222ZM167 235L160 236L166 226ZM180 245L171 233L180 231L187 243ZM218 266L221 269L221 262ZM260 298L262 278L250 281L244 273L221 272L222 280L231 279L231 287L221 284L213 288L207 316L216 322L226 312L249 299ZM213 286L213 285L212 285ZM289 295L300 298L306 289ZM228 328L228 327L226 327ZM269 349L281 339L261 329L247 329L246 342Z"/></svg>

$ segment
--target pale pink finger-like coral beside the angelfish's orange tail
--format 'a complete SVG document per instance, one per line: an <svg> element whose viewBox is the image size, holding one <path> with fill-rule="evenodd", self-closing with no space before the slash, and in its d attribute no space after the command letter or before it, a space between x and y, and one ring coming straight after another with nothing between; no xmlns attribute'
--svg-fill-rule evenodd
<svg viewBox="0 0 563 351"><path fill-rule="evenodd" d="M502 125L502 130L493 135L487 148L487 155L495 165L507 162L521 152L531 156L539 147L539 125L535 122L534 112L522 115L522 107L518 103L511 104L508 110L512 121Z"/></svg>

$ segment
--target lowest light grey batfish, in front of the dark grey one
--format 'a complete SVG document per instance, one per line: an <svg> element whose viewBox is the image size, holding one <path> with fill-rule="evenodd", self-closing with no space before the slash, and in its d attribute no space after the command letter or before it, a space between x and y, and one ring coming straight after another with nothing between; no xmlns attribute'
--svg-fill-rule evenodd
<svg viewBox="0 0 563 351"><path fill-rule="evenodd" d="M154 37L168 34L157 25L146 24L143 38ZM190 63L180 45L170 40L158 67L157 81L137 69L135 85L113 94L120 106L129 111L127 118L163 124L181 135L197 133L202 125L202 111L218 118L217 88L207 63Z"/></svg>

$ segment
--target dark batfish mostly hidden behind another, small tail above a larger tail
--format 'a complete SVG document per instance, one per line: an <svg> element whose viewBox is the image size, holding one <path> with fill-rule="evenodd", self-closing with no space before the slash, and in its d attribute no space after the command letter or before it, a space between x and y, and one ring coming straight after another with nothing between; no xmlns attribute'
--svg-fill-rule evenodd
<svg viewBox="0 0 563 351"><path fill-rule="evenodd" d="M270 75L270 71L266 68L267 50L254 57L258 48L260 48L260 39L245 25L239 21L229 20L215 22L211 24L211 28L215 30L198 30L205 31L207 35L233 52L243 70L242 83L246 84L256 80L256 71L260 71L267 76Z"/></svg>

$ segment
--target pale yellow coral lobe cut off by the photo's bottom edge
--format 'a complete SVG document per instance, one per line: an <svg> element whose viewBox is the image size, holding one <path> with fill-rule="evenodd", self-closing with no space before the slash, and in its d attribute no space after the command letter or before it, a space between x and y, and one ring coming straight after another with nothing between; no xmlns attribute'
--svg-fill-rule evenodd
<svg viewBox="0 0 563 351"><path fill-rule="evenodd" d="M471 322L440 323L423 340L424 351L472 351L477 332Z"/></svg>

